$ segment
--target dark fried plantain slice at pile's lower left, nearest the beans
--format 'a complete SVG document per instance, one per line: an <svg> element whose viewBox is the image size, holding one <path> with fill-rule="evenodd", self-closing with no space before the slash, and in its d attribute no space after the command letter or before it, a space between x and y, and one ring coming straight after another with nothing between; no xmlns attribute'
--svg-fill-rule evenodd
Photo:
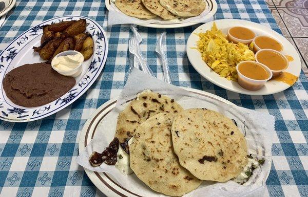
<svg viewBox="0 0 308 197"><path fill-rule="evenodd" d="M65 39L66 35L62 34L60 37L53 38L52 40L48 41L46 45L41 48L40 50L40 57L44 60L49 60L50 57L53 55L55 50L59 47L61 42ZM33 47L34 51L37 48Z"/></svg>

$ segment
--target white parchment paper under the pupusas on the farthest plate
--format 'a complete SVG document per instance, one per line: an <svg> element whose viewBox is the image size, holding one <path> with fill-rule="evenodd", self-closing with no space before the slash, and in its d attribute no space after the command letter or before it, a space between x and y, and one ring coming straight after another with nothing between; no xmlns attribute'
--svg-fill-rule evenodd
<svg viewBox="0 0 308 197"><path fill-rule="evenodd" d="M114 2L114 1L113 1ZM108 12L108 25L120 25L120 24L138 24L138 25L148 25L151 23L155 24L174 24L174 23L206 23L208 21L214 20L214 17L207 18L205 17L210 12L209 8L205 8L205 10L198 16L189 17L183 20L172 19L172 20L163 20L160 17L156 17L153 19L139 19L136 17L128 16L120 11L114 3L110 3L110 9Z"/></svg>

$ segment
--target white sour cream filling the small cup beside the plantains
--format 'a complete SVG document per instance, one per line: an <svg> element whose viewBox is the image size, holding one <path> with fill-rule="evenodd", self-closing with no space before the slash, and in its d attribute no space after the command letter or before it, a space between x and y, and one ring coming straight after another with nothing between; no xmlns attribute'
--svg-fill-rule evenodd
<svg viewBox="0 0 308 197"><path fill-rule="evenodd" d="M66 72L79 67L83 61L83 55L81 53L77 53L75 55L54 57L54 59L52 59L52 64L57 70Z"/></svg>

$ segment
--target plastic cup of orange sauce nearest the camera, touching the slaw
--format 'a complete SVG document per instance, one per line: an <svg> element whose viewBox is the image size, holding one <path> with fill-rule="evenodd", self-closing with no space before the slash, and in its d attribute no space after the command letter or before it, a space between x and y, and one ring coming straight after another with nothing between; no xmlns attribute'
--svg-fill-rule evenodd
<svg viewBox="0 0 308 197"><path fill-rule="evenodd" d="M237 64L238 83L244 89L256 91L273 77L266 65L256 61L242 61Z"/></svg>

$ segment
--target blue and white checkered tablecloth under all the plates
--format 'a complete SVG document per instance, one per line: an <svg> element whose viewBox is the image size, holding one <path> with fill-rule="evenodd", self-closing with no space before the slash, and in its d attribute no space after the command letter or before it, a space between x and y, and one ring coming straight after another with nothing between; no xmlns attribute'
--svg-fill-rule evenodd
<svg viewBox="0 0 308 197"><path fill-rule="evenodd" d="M280 32L263 0L218 0L216 19L252 20ZM107 26L104 1L20 1L8 13L0 31L0 49L43 20L62 15L83 15L96 20L107 32L109 53L98 80L72 105L43 120L29 123L0 121L0 196L105 196L93 186L76 162L80 131L89 116L125 83L129 59L128 25ZM140 27L141 48L150 68L162 79L155 55L157 37L167 31L167 56L175 85L204 90L233 103L276 117L273 164L266 196L308 196L308 81L304 74L284 92L248 96L229 92L208 82L192 68L185 43L199 25L179 29ZM258 120L256 120L258 121Z"/></svg>

